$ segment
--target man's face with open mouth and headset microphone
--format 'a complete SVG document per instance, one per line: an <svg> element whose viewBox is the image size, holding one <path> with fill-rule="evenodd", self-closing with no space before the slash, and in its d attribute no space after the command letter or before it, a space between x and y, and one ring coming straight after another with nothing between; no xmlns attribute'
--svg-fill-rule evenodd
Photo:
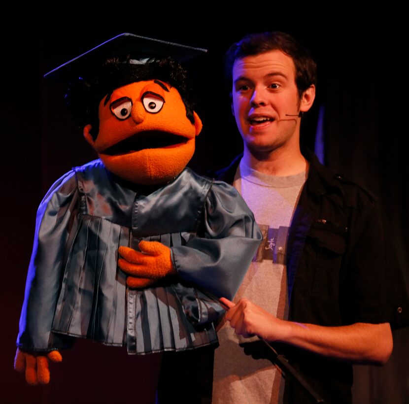
<svg viewBox="0 0 409 404"><path fill-rule="evenodd" d="M236 60L232 94L239 132L252 153L299 148L298 115L313 98L310 103L304 96L300 100L291 57L273 50Z"/></svg>

